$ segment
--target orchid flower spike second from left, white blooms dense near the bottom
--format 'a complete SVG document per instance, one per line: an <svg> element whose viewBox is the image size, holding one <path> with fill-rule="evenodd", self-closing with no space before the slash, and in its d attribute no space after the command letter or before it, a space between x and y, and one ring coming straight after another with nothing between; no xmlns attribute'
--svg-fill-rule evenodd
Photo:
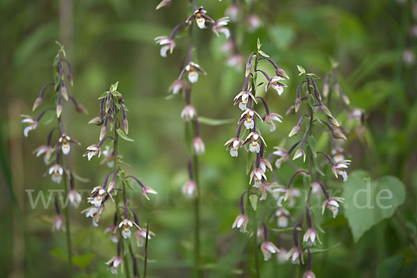
<svg viewBox="0 0 417 278"><path fill-rule="evenodd" d="M104 210L108 209L106 208L106 206L108 206L107 204L111 202L115 204L113 224L109 225L104 231L104 233L109 234L109 238L113 243L117 243L117 256L114 256L107 262L113 274L117 274L117 268L119 265L122 265L120 250L125 248L125 250L129 249L129 252L133 252L130 241L125 240L125 242L122 242L123 239L129 239L133 234L134 238L136 238L138 247L142 247L145 238L150 239L151 236L154 236L152 231L140 227L138 216L131 208L129 208L129 205L133 202L133 200L129 200L126 197L126 186L129 186L129 179L138 183L142 195L146 199L149 200L149 194L157 194L154 189L145 186L137 177L126 175L125 170L121 167L122 156L117 149L119 140L122 138L127 141L132 141L132 139L127 137L129 124L126 117L126 104L124 104L122 94L117 91L117 85L118 83L112 84L111 88L99 97L99 116L90 121L90 123L101 126L99 142L96 145L87 147L87 152L83 155L87 156L88 161L90 161L94 156L99 157L101 154L104 154L106 155L104 162L106 162L109 167L113 166L114 168L114 170L111 170L106 174L106 177L104 177L104 181L100 186L95 186L95 188L92 189L90 197L87 198L87 202L90 206L82 211L87 218L92 218L92 224L97 227L99 226L99 220L104 213ZM110 131L113 131L113 136L107 135ZM102 151L101 147L106 140L110 140L112 146L106 145L106 149ZM111 164L109 165L110 162ZM120 204L120 198L118 196L120 194L122 194L122 204ZM111 202L109 202L109 200L111 200ZM124 252L124 254L126 252ZM136 265L136 256L134 256L133 253L131 256L133 265ZM137 268L133 269L133 272L135 271L137 274Z"/></svg>

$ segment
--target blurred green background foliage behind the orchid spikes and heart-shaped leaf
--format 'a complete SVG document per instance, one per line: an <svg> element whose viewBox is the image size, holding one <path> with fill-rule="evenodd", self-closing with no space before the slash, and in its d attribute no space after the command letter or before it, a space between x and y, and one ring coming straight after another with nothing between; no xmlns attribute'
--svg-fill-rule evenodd
<svg viewBox="0 0 417 278"><path fill-rule="evenodd" d="M223 17L230 5L227 0L195 2L214 19ZM169 35L177 23L185 21L190 6L186 0L174 0L170 8L156 11L157 4L150 0L0 2L2 277L66 277L65 236L52 234L50 225L42 220L53 217L54 208L31 209L24 191L58 188L49 177L42 177L46 171L42 158L32 155L33 149L44 144L49 129L41 124L29 138L23 138L19 117L34 115L33 101L44 83L53 79L55 40L65 44L72 62L74 87L69 88L70 93L90 112L88 116L77 114L71 104L64 108L67 133L82 144L73 147L68 164L90 179L89 183L76 183L76 188L91 189L106 174L97 158L88 162L80 156L98 140L99 127L88 125L99 111L97 97L119 81L118 90L129 107L129 137L135 140L120 146L130 165L126 172L158 191L151 201L145 202L139 192L133 196L142 222L156 213L151 220L156 236L149 242L148 277L191 277L193 215L191 203L181 195L187 179L187 149L179 116L183 100L165 98L188 42L186 38L177 40L174 53L167 58L159 56L154 44L156 36ZM263 51L291 77L281 97L268 95L270 108L285 115L293 105L301 81L296 65L324 76L330 70L329 60L337 60L339 82L352 107L367 113L370 148L380 172L399 177L406 186L407 199L399 215L416 238L415 1L265 0L257 1L255 7L263 26L254 33L238 29L241 54L247 57L256 50L260 38ZM193 87L192 101L199 115L236 120L240 112L232 100L243 85L243 69L225 65L227 57L220 51L224 42L223 35L217 38L209 28L195 32L195 57L207 76L201 76ZM295 116L284 117L277 131L265 136L268 147L283 142L296 121ZM201 158L206 277L250 277L248 239L231 230L239 213L238 198L247 188L244 157L231 158L223 146L235 129L234 122L201 128L206 143ZM352 169L372 170L370 156L360 142L353 140L347 150L352 154ZM83 202L79 210L71 210L74 250L81 269L77 273L79 277L111 277L104 261L115 254L115 245L103 229L112 216L104 215L97 229L79 212L85 207ZM313 257L318 277L416 277L416 253L397 221L380 222L358 243L353 243L343 215L327 223L326 231L322 235L327 238L325 247L341 245ZM295 270L293 265L277 265L274 260L262 261L261 268L263 276L276 277L293 277Z"/></svg>

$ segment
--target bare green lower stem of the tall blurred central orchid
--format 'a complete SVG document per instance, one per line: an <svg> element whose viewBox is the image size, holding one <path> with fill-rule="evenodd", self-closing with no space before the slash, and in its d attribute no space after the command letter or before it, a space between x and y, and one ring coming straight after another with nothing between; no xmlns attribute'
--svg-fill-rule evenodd
<svg viewBox="0 0 417 278"><path fill-rule="evenodd" d="M198 156L193 156L193 165L194 165L194 179L195 184L197 186L197 195L194 199L194 220L195 220L195 227L194 227L194 240L195 240L195 247L194 247L194 254L195 254L195 277L202 277L202 270L200 267L200 215L199 215L199 202L200 202L200 186L199 186L199 163L198 163Z"/></svg>

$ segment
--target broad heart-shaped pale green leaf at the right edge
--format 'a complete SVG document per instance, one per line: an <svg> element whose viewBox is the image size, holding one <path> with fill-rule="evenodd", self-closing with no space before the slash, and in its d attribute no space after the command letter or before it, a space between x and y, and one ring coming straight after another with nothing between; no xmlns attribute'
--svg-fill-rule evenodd
<svg viewBox="0 0 417 278"><path fill-rule="evenodd" d="M370 227L390 218L405 199L404 184L400 179L385 176L372 181L370 174L363 170L352 172L343 188L345 217L355 242Z"/></svg>

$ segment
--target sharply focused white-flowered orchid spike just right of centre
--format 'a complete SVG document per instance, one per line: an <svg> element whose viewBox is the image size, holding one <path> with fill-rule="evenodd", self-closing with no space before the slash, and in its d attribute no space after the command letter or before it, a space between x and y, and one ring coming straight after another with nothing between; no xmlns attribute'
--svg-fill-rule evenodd
<svg viewBox="0 0 417 278"><path fill-rule="evenodd" d="M258 76L258 74L262 74L262 76L265 77L267 81L265 83L265 92L268 92L268 89L272 88L278 93L278 95L281 95L284 87L286 87L286 85L281 81L288 79L288 76L284 70L281 70L273 60L270 58L262 57L261 55L266 56L266 54L261 51L261 44L259 42L258 51L252 52L247 60L245 83L243 84L243 89L234 98L234 104L238 104L240 110L243 111L238 120L236 136L225 143L231 156L237 157L239 150L245 149L247 152L250 152L250 154L252 153L251 157L254 157L250 161L252 170L250 171L249 183L253 188L257 189L257 193L252 193L252 191L245 191L241 195L240 215L238 215L234 224L232 225L232 228L236 227L242 232L247 231L247 224L250 222L250 219L245 214L245 207L243 204L243 197L245 193L251 193L251 195L255 196L256 200L264 200L266 199L268 193L272 194L272 186L267 181L267 172L272 172L272 165L270 160L264 157L266 142L259 129L259 124L265 122L266 124L270 125L270 131L275 131L275 122L281 122L282 119L282 117L277 113L270 112L266 97L256 96L256 89L259 86L256 85L259 83L259 81L256 81L256 76ZM276 76L271 78L263 70L258 70L258 63L263 60L268 61L268 63L272 65ZM265 109L265 114L262 117L259 115L259 112L256 111L256 108L258 108L256 106L257 104L263 104L263 108ZM245 131L242 132L242 129ZM251 196L251 198L253 197ZM281 223L288 222L288 219L284 219L288 217L288 213L284 210L277 212L277 217ZM256 220L254 221L256 222ZM265 223L263 223L263 228L260 228L258 231L261 231L260 234L263 235L261 251L263 252L263 256L266 261L270 259L272 254L278 254L280 250L272 242L268 241L268 231Z"/></svg>

